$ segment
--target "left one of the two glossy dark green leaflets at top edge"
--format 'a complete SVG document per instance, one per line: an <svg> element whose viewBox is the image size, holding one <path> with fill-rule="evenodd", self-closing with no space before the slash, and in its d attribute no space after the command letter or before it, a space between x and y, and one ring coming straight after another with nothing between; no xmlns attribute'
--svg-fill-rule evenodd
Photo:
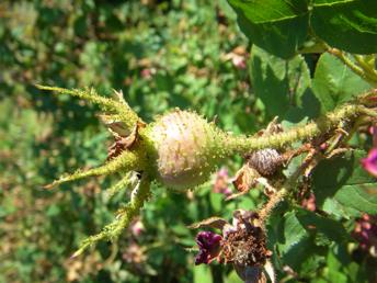
<svg viewBox="0 0 377 283"><path fill-rule="evenodd" d="M305 0L228 0L241 31L255 45L282 58L296 54L308 31Z"/></svg>

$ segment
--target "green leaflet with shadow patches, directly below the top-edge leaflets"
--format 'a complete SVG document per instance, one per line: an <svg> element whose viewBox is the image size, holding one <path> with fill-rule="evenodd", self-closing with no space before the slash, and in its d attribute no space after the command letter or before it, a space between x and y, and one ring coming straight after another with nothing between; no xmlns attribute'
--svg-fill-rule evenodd
<svg viewBox="0 0 377 283"><path fill-rule="evenodd" d="M284 60L254 46L250 67L255 95L262 100L270 118L278 115L297 122L318 114L319 103L312 94L309 69L302 56Z"/></svg>

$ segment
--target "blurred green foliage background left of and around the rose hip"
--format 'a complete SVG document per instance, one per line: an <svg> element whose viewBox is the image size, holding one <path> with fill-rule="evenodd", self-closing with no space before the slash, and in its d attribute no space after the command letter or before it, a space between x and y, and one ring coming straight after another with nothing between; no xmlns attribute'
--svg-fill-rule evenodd
<svg viewBox="0 0 377 283"><path fill-rule="evenodd" d="M1 1L0 282L240 282L230 267L194 267L186 225L254 208L259 193L226 203L210 182L194 194L155 185L135 229L69 259L126 200L106 196L113 179L42 189L103 163L113 140L96 106L34 83L123 90L148 122L179 106L252 133L264 117L248 49L225 0Z"/></svg>

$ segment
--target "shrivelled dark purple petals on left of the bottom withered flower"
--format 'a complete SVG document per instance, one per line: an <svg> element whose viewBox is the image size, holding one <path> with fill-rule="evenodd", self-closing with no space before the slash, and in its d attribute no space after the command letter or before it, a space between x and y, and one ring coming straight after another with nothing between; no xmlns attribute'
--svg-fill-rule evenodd
<svg viewBox="0 0 377 283"><path fill-rule="evenodd" d="M196 244L199 246L199 253L195 258L195 265L209 263L220 253L220 241L222 237L212 231L201 231L196 236Z"/></svg>

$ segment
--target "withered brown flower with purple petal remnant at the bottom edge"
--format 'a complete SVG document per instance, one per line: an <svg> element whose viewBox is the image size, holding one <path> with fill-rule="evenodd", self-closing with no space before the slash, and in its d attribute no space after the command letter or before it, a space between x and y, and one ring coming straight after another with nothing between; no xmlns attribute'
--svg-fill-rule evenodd
<svg viewBox="0 0 377 283"><path fill-rule="evenodd" d="M212 217L191 227L212 227L222 231L222 237L212 231L197 235L196 242L201 251L195 264L209 263L217 258L220 262L232 263L244 282L266 282L263 270L275 282L270 262L272 252L266 248L265 231L255 212L236 211L231 225L225 219Z"/></svg>

